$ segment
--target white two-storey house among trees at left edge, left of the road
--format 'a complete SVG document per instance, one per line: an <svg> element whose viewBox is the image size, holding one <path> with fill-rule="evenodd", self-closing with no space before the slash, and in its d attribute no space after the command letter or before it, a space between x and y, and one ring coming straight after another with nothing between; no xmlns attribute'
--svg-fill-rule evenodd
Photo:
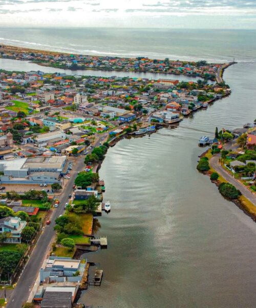
<svg viewBox="0 0 256 308"><path fill-rule="evenodd" d="M5 243L21 243L22 231L26 226L26 221L19 217L5 217L0 219L0 233L8 234Z"/></svg>

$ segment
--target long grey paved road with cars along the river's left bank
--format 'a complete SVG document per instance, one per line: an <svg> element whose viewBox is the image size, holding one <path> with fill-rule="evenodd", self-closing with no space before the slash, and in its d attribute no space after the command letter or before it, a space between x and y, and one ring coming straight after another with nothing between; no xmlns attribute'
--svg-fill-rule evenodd
<svg viewBox="0 0 256 308"><path fill-rule="evenodd" d="M108 134L102 136L106 137ZM101 137L102 137L101 136ZM101 139L98 139L94 146L98 146ZM89 153L92 150L89 151ZM15 289L13 290L10 298L8 299L7 308L21 308L23 303L25 303L29 297L32 290L36 277L38 275L41 265L44 263L45 257L49 252L50 244L55 236L55 231L53 229L55 219L63 214L65 203L69 200L69 195L72 192L72 186L77 173L81 171L84 167L84 156L77 158L76 164L74 164L73 172L70 175L69 183L66 185L65 190L62 192L61 196L58 198L60 203L59 206L53 210L51 216L51 224L47 225L39 237L33 253L31 254L22 275L17 282Z"/></svg>

